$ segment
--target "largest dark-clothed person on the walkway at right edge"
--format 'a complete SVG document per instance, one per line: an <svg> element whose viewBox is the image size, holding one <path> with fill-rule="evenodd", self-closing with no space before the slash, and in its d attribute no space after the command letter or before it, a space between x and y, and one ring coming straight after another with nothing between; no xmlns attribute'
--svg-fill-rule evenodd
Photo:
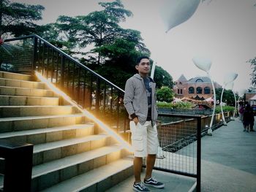
<svg viewBox="0 0 256 192"><path fill-rule="evenodd" d="M249 104L246 104L243 115L244 131L249 132L250 130L253 130L254 123L255 116L253 114L252 107Z"/></svg>

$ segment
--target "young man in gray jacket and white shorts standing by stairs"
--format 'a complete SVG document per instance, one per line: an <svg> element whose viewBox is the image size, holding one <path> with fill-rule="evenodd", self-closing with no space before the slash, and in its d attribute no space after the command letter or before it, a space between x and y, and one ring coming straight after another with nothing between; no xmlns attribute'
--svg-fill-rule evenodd
<svg viewBox="0 0 256 192"><path fill-rule="evenodd" d="M150 62L147 56L141 56L136 62L138 74L130 77L125 85L124 106L131 119L129 126L132 132L132 147L134 148L134 191L149 191L145 185L164 188L163 183L152 177L152 170L156 161L159 141L157 137L157 103L156 83L150 77ZM146 158L146 176L144 184L140 180L140 173Z"/></svg>

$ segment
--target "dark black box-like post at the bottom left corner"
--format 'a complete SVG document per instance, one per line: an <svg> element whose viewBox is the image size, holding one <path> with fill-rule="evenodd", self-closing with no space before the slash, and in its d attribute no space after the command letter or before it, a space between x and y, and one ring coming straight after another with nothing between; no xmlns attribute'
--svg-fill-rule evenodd
<svg viewBox="0 0 256 192"><path fill-rule="evenodd" d="M4 158L4 192L31 191L33 145L0 141L0 157Z"/></svg>

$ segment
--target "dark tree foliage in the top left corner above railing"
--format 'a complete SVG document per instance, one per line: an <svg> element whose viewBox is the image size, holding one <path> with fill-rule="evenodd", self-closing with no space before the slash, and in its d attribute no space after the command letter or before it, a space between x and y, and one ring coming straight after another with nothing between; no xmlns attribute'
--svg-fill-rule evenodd
<svg viewBox="0 0 256 192"><path fill-rule="evenodd" d="M34 21L42 19L42 5L10 3L0 0L0 37L10 34L18 37L37 31Z"/></svg>

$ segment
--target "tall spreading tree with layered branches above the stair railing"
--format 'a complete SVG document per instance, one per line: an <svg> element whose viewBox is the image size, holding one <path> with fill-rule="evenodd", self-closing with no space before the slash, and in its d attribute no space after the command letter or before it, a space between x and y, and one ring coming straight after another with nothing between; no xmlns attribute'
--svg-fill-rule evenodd
<svg viewBox="0 0 256 192"><path fill-rule="evenodd" d="M75 18L61 16L57 22L59 28L64 31L67 39L72 42L77 42L79 47L93 45L96 48L103 45L110 45L117 38L130 37L129 30L124 30L118 23L124 21L132 15L120 0L113 2L99 2L99 5L104 9L95 11L86 16L77 16ZM91 50L91 57L95 57L97 64L102 64L101 54L99 49ZM88 54L87 54L88 55Z"/></svg>

